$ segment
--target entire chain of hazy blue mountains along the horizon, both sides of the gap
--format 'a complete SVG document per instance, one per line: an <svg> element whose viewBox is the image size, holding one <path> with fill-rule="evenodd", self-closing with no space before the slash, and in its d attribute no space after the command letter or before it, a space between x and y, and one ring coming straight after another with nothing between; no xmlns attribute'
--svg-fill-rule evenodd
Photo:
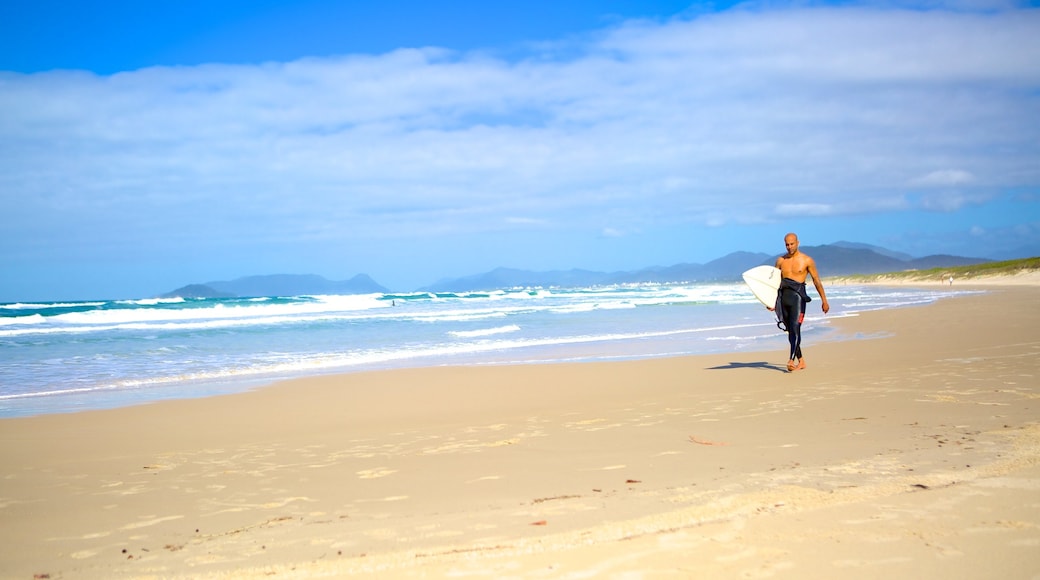
<svg viewBox="0 0 1040 580"><path fill-rule="evenodd" d="M991 262L984 258L935 255L913 258L906 254L869 244L836 242L804 246L802 251L816 261L821 276L873 274L903 270L924 270L967 266ZM532 271L496 268L479 274L445 279L418 288L422 292L468 292L516 287L574 287L612 284L669 282L736 282L740 273L754 266L772 265L775 255L734 252L705 264L682 263L653 266L633 271L599 272L583 269ZM272 274L240 278L233 281L191 284L163 294L164 297L296 296L306 294L369 294L390 290L367 274L345 281L331 281L314 274Z"/></svg>

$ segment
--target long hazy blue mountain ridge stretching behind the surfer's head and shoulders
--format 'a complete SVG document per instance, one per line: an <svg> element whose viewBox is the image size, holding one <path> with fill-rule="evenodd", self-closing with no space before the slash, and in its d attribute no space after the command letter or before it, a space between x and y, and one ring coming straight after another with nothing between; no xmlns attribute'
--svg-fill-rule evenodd
<svg viewBox="0 0 1040 580"><path fill-rule="evenodd" d="M902 270L953 267L991 262L984 258L959 256L927 256L911 258L883 247L853 242L803 246L812 256L824 281L829 276L872 274ZM734 252L707 264L675 264L654 266L628 272L596 272L566 270L539 272L512 268L497 268L483 274L454 280L442 280L420 288L426 292L468 292L516 287L597 286L610 284L669 283L669 282L735 282L740 273L754 266L773 265L777 256Z"/></svg>

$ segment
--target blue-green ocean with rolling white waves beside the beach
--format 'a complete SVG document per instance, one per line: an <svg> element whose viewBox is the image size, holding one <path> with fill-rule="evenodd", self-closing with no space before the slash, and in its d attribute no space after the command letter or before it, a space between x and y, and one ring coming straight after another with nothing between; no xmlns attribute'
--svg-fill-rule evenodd
<svg viewBox="0 0 1040 580"><path fill-rule="evenodd" d="M810 295L812 294L810 290ZM833 286L829 321L947 289ZM232 393L276 380L439 365L605 361L748 350L785 335L742 284L0 305L0 418Z"/></svg>

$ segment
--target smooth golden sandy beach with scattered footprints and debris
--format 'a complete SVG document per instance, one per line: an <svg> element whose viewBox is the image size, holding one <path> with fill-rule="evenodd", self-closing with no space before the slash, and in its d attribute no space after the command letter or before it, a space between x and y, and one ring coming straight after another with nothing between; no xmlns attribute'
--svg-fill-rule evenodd
<svg viewBox="0 0 1040 580"><path fill-rule="evenodd" d="M1038 304L0 420L0 577L1040 578Z"/></svg>

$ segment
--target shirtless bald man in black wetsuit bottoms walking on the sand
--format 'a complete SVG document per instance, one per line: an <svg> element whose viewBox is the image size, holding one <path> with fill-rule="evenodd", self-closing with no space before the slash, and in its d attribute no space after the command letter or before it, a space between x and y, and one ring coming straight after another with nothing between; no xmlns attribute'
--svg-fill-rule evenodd
<svg viewBox="0 0 1040 580"><path fill-rule="evenodd" d="M790 341L790 357L787 360L787 371L794 372L805 368L805 357L802 355L802 321L805 320L805 307L811 298L805 291L805 279L812 276L812 284L824 301L824 314L831 310L824 293L824 284L816 271L816 262L798 251L798 236L787 234L783 238L787 254L777 258L776 266L780 269L780 291L777 294L779 318L787 329Z"/></svg>

